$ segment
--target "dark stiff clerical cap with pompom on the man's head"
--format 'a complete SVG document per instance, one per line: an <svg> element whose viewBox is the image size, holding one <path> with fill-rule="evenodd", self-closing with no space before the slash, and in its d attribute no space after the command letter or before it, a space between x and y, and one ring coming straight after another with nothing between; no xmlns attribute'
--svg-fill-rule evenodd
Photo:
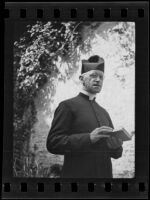
<svg viewBox="0 0 150 200"><path fill-rule="evenodd" d="M95 55L91 56L88 60L82 60L81 74L91 70L100 70L104 72L104 59Z"/></svg>

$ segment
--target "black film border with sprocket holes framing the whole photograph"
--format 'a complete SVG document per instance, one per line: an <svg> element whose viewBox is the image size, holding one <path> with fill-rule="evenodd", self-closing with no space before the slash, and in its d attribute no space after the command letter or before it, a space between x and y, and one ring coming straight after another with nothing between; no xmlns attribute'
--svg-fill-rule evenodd
<svg viewBox="0 0 150 200"><path fill-rule="evenodd" d="M149 155L149 15L148 2L87 2L87 3L6 3L10 17L4 24L4 132L2 183L10 183L10 192L3 198L147 198L148 155ZM25 8L27 17L20 18L19 10ZM132 21L136 26L136 100L135 100L135 178L132 179L50 179L12 177L13 141L13 30L16 21L37 20L36 9L42 8L44 15L39 20L61 21ZM53 9L60 9L60 18L53 17ZM77 18L70 17L70 9L77 8ZM93 18L87 18L87 9L94 8ZM111 16L104 17L104 9L111 8ZM128 8L126 18L121 18L120 9ZM144 17L138 17L138 9L144 9ZM28 184L28 191L20 191L20 183ZM38 192L37 183L44 183L45 191ZM95 191L88 192L88 183L95 183ZM112 191L105 192L105 183L112 184ZM127 182L128 192L122 192L122 183ZM61 191L55 192L55 183L61 184ZM71 183L77 183L77 192L71 192ZM139 192L139 183L145 183L145 192Z"/></svg>

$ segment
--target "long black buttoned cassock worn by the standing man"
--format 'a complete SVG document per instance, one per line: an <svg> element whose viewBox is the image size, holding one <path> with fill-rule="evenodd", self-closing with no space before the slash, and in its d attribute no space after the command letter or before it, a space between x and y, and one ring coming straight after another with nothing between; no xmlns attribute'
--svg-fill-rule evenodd
<svg viewBox="0 0 150 200"><path fill-rule="evenodd" d="M47 149L64 155L62 178L112 178L112 158L122 156L122 146L109 149L106 138L91 143L90 132L113 128L107 111L83 93L59 104L47 138Z"/></svg>

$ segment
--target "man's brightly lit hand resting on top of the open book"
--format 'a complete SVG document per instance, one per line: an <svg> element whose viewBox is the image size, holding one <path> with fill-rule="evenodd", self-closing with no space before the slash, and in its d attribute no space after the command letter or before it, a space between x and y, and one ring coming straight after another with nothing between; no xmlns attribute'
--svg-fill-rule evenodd
<svg viewBox="0 0 150 200"><path fill-rule="evenodd" d="M110 128L110 127L108 127L108 126L102 126L100 128L94 129L90 133L91 142L95 143L98 140L100 140L101 138L108 138L108 137L110 137L109 135L105 135L105 133L112 132L112 131L113 131L113 129Z"/></svg>

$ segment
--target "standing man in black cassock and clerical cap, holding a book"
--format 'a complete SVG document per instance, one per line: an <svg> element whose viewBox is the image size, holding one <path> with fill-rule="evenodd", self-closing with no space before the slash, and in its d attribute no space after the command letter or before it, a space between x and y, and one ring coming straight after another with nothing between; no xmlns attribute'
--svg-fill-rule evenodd
<svg viewBox="0 0 150 200"><path fill-rule="evenodd" d="M122 141L109 137L113 124L95 101L104 78L104 59L82 61L82 91L59 104L47 138L47 149L64 155L62 178L112 178L112 158L122 156Z"/></svg>

